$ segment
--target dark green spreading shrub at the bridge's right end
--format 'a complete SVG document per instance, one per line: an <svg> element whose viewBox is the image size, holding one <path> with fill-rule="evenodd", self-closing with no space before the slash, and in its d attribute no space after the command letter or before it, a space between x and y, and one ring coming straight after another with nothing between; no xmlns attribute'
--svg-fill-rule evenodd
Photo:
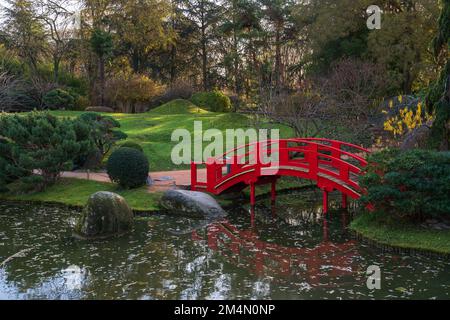
<svg viewBox="0 0 450 320"><path fill-rule="evenodd" d="M450 214L450 152L390 149L369 157L361 198L377 212L423 219Z"/></svg>

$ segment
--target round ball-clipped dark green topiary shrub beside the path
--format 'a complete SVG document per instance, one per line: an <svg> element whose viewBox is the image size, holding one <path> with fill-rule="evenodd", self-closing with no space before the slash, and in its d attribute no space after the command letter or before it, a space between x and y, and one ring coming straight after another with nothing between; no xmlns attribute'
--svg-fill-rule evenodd
<svg viewBox="0 0 450 320"><path fill-rule="evenodd" d="M108 159L106 170L111 181L121 187L137 188L145 185L149 164L145 155L132 148L116 149Z"/></svg>

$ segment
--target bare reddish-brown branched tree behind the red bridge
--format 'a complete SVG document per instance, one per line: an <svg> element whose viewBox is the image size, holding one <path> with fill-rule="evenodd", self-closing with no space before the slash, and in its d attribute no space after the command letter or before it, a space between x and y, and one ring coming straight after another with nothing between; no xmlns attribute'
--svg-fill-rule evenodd
<svg viewBox="0 0 450 320"><path fill-rule="evenodd" d="M371 117L380 113L382 70L346 59L296 93L263 98L260 113L291 127L298 137L323 136L368 143Z"/></svg>

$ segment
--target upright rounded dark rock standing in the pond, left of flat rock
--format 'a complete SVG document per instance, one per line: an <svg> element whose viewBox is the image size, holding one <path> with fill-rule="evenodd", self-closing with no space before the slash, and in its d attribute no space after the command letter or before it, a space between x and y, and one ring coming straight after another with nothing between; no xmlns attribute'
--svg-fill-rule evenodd
<svg viewBox="0 0 450 320"><path fill-rule="evenodd" d="M125 199L112 192L91 195L76 227L75 236L85 239L121 235L133 227L133 211Z"/></svg>

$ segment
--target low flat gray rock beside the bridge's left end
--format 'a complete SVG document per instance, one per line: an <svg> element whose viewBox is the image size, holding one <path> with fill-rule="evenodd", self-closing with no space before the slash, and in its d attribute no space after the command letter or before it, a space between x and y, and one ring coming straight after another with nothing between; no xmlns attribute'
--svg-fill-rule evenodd
<svg viewBox="0 0 450 320"><path fill-rule="evenodd" d="M168 190L161 198L161 206L189 218L215 219L227 215L213 197L196 191Z"/></svg>

